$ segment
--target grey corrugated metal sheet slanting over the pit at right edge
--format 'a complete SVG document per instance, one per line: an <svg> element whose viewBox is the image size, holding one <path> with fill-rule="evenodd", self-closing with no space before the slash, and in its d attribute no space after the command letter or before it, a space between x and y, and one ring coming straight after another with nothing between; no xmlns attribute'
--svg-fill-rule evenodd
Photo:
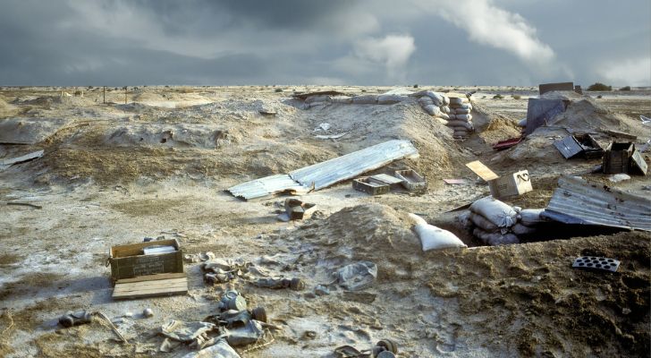
<svg viewBox="0 0 651 358"><path fill-rule="evenodd" d="M651 200L563 175L542 216L566 224L651 231Z"/></svg>

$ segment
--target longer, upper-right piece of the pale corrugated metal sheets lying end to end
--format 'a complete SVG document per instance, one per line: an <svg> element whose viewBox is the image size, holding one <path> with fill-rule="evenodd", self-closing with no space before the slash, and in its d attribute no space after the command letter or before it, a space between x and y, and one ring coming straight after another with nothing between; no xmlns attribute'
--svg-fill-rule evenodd
<svg viewBox="0 0 651 358"><path fill-rule="evenodd" d="M418 150L410 141L385 141L339 158L294 170L290 176L303 186L314 185L314 190L320 190L402 158L418 158Z"/></svg>

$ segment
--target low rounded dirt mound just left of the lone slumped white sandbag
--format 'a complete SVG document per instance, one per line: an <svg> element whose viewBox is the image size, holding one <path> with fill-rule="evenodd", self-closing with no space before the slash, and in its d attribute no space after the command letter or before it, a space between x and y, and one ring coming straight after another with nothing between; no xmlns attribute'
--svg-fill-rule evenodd
<svg viewBox="0 0 651 358"><path fill-rule="evenodd" d="M300 236L320 247L321 260L377 262L380 278L395 276L421 252L407 214L380 204L344 208L300 226Z"/></svg>

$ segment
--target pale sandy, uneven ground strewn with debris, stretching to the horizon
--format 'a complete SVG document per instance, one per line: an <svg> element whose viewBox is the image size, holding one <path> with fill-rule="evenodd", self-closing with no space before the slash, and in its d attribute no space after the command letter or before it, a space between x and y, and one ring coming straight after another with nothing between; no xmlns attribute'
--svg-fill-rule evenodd
<svg viewBox="0 0 651 358"><path fill-rule="evenodd" d="M415 103L304 110L291 98L294 90L331 89L130 88L126 105L123 90L107 92L108 104L101 89L84 89L83 97L61 96L62 90L73 94L75 89L0 90L0 118L71 120L45 141L0 145L0 158L45 150L43 158L0 171L0 355L190 352L186 347L157 352L163 341L157 332L167 320L203 320L216 312L227 286L204 284L199 264L186 263L187 295L111 299L105 266L109 248L162 235L179 240L188 253L272 258L282 265L270 269L306 280L302 292L258 288L242 280L231 284L250 307L265 306L282 328L274 343L242 353L245 357L333 356L339 345L368 349L382 338L398 342L405 357L647 356L651 234L551 230L536 242L487 247L456 223L461 211L446 212L488 192L464 166L471 160L482 160L498 174L528 169L535 191L508 201L523 208L544 208L559 175L599 164L562 158L552 146L562 132L541 132L503 152L491 149L519 133L515 123L526 115L527 98L536 89L432 88L478 90L473 96L477 132L467 141L452 140L452 130ZM494 99L497 93L504 98ZM650 93L603 94L594 101L605 109L594 110L591 104L572 114L637 134L643 142L651 138L651 129L638 124L638 115L651 114ZM262 107L277 115L260 115ZM576 126L572 121L563 125ZM331 124L326 134L347 134L319 140L314 129L321 123ZM316 203L317 212L290 223L275 218L282 197L242 201L224 192L236 183L393 139L412 141L420 158L376 173L412 167L426 175L427 192L369 197L353 191L349 182L340 183L300 197ZM597 139L602 144L612 140ZM584 177L646 196L644 187L651 183L641 176L617 184L607 182L606 175ZM444 178L468 183L447 185ZM42 209L7 206L6 201ZM455 232L469 249L423 253L410 230L409 212ZM613 274L572 269L571 261L581 255L612 257L622 264ZM317 284L331 281L332 271L358 260L377 264L373 286L361 293L333 287L328 295L312 294ZM152 308L154 317L141 317L145 308ZM80 309L112 318L133 312L117 324L130 344L117 342L98 322L57 325L65 311Z"/></svg>

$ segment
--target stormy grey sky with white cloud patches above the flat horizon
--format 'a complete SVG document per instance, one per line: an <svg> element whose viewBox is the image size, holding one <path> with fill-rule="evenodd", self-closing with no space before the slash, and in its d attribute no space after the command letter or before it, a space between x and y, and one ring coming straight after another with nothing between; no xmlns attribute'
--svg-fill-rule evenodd
<svg viewBox="0 0 651 358"><path fill-rule="evenodd" d="M651 86L648 0L0 0L0 85Z"/></svg>

